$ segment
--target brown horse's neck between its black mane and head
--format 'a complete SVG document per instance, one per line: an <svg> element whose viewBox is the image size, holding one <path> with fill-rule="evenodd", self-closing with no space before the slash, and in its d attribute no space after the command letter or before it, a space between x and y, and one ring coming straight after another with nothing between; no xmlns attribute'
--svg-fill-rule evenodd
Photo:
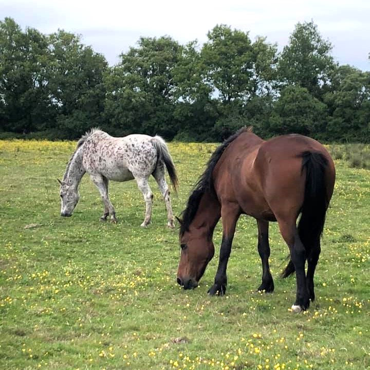
<svg viewBox="0 0 370 370"><path fill-rule="evenodd" d="M198 210L189 230L211 238L221 216L221 205L214 192L205 192L200 198Z"/></svg>

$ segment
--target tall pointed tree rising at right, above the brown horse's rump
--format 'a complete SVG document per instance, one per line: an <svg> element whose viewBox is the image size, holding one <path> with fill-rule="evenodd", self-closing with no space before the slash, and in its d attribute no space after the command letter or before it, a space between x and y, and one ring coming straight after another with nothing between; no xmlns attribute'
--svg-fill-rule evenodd
<svg viewBox="0 0 370 370"><path fill-rule="evenodd" d="M313 97L321 99L335 67L331 49L331 43L322 38L312 21L298 23L279 60L279 75L283 84L300 85Z"/></svg>

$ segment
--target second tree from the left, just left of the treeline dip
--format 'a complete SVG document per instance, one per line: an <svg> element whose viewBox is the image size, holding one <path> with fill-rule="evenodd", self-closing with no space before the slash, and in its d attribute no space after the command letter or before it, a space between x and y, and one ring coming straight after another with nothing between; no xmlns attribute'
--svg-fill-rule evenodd
<svg viewBox="0 0 370 370"><path fill-rule="evenodd" d="M49 88L57 127L74 138L99 125L104 110L103 55L81 44L80 36L59 30L49 35Z"/></svg>

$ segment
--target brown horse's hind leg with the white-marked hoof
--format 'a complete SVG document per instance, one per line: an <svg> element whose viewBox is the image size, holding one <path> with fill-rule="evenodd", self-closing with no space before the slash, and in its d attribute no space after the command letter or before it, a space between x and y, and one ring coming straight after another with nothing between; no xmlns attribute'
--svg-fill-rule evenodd
<svg viewBox="0 0 370 370"><path fill-rule="evenodd" d="M295 220L284 222L278 219L278 223L280 233L289 247L290 258L294 264L295 275L297 277L297 295L291 309L293 312L300 312L309 307L309 294L305 272L306 250L298 234Z"/></svg>

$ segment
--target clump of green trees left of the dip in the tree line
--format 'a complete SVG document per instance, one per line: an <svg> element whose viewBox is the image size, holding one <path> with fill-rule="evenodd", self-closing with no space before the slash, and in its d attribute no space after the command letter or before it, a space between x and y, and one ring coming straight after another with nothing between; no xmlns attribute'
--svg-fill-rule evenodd
<svg viewBox="0 0 370 370"><path fill-rule="evenodd" d="M50 35L0 22L0 122L15 133L75 138L101 121L105 58L59 30ZM55 130L56 129L56 130Z"/></svg>

